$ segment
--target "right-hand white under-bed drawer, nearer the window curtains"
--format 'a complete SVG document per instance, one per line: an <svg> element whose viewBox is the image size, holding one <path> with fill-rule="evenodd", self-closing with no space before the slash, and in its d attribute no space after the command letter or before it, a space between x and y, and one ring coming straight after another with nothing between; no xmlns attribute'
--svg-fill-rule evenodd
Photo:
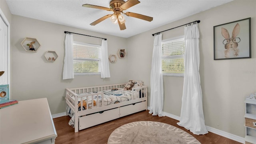
<svg viewBox="0 0 256 144"><path fill-rule="evenodd" d="M120 107L120 117L146 110L146 101Z"/></svg>

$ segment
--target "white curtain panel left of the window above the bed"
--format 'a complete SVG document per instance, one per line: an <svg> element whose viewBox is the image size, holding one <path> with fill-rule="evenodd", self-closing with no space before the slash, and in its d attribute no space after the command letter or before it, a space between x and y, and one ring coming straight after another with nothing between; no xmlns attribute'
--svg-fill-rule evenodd
<svg viewBox="0 0 256 144"><path fill-rule="evenodd" d="M74 43L73 35L66 34L63 80L74 78L73 43Z"/></svg>

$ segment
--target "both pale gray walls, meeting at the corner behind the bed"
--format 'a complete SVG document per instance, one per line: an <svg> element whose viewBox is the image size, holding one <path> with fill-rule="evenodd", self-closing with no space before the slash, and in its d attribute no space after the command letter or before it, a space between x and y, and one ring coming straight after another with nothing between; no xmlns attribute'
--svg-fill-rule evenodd
<svg viewBox="0 0 256 144"><path fill-rule="evenodd" d="M201 20L198 25L200 76L206 126L244 137L244 98L256 92L255 16L256 1L236 0L130 38L120 38L12 15L12 98L28 100L46 97L52 114L58 114L65 111L62 96L64 89L68 87L114 84L137 79L145 82L150 95L154 40L151 34ZM252 58L213 60L213 26L248 17L252 18ZM124 59L118 58L116 64L110 63L111 78L75 76L74 80L62 80L64 31L108 38L108 54L116 54L122 45L127 56ZM162 34L163 39L181 36L184 35L184 28L176 28ZM42 45L40 50L36 53L26 52L20 45L24 37L37 38ZM74 35L74 40L100 44L98 39L79 35ZM44 53L47 50L57 52L59 57L55 62L46 61ZM182 77L164 76L164 112L180 116L182 89Z"/></svg>

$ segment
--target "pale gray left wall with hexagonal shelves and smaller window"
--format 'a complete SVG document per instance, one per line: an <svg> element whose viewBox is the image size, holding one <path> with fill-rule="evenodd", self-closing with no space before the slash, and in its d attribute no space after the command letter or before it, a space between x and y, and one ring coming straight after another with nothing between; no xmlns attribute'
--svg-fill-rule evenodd
<svg viewBox="0 0 256 144"><path fill-rule="evenodd" d="M62 80L64 64L64 31L97 36L108 39L108 54L116 54L120 45L126 49L126 39L107 34L90 32L69 26L53 24L22 16L12 15L12 98L28 100L46 97L52 114L65 112L65 88L123 83L127 81L126 58L110 63L111 78L96 76L75 76L73 80ZM20 44L25 38L36 38L41 44L37 52L26 52ZM102 39L74 34L74 41L101 44ZM58 58L48 62L46 51L56 51Z"/></svg>

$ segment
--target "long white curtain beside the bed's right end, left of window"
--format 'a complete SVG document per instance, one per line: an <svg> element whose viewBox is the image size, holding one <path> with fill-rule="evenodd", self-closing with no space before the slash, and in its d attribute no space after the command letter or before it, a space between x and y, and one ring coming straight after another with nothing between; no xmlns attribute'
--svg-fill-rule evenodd
<svg viewBox="0 0 256 144"><path fill-rule="evenodd" d="M158 34L154 38L154 48L152 55L152 67L150 75L150 111L152 116L164 116L164 86L162 75L162 34Z"/></svg>

